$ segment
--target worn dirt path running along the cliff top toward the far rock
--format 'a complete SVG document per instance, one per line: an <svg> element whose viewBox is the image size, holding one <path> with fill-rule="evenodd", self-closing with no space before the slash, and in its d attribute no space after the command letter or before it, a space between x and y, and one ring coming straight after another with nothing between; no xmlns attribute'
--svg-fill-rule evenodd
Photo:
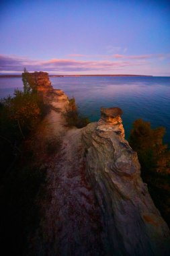
<svg viewBox="0 0 170 256"><path fill-rule="evenodd" d="M58 97L53 106L67 102ZM81 129L68 129L61 113L48 116L48 135L60 135L62 146L48 163L44 218L36 235L36 255L105 255L102 224L93 191L85 179Z"/></svg>

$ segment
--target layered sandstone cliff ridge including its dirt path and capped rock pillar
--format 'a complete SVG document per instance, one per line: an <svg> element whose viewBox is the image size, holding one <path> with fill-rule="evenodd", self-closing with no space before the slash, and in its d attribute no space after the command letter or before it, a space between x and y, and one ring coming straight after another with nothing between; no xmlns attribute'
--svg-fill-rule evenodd
<svg viewBox="0 0 170 256"><path fill-rule="evenodd" d="M101 108L98 122L77 129L62 115L69 106L64 92L50 90L48 101L51 110L36 137L38 157L44 137L54 146L59 138L61 146L50 160L42 158L48 183L28 255L169 255L169 228L124 139L122 110Z"/></svg>

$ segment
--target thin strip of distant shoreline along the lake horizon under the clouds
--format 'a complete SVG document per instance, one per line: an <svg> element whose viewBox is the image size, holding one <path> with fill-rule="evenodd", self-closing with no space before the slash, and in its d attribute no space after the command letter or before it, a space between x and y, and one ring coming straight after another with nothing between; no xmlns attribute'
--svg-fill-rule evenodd
<svg viewBox="0 0 170 256"><path fill-rule="evenodd" d="M153 77L153 75L49 75L49 77ZM22 75L0 75L0 78L22 77Z"/></svg>

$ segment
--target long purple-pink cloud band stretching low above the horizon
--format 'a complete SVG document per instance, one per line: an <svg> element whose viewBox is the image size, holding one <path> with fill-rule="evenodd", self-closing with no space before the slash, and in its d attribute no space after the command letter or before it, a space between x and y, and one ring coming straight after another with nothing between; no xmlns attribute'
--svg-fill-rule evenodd
<svg viewBox="0 0 170 256"><path fill-rule="evenodd" d="M130 61L77 61L75 59L50 59L48 61L31 60L26 57L0 55L0 71L114 71L117 68L142 65Z"/></svg>

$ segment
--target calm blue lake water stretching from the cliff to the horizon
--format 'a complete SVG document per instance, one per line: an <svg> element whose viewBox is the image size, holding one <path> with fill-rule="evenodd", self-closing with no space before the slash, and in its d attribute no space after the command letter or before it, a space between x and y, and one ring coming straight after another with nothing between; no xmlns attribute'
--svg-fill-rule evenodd
<svg viewBox="0 0 170 256"><path fill-rule="evenodd" d="M132 123L142 118L153 128L166 127L165 142L170 145L170 77L50 77L52 86L75 97L79 110L97 121L99 108L119 106L126 138ZM22 88L21 78L1 78L0 96Z"/></svg>

